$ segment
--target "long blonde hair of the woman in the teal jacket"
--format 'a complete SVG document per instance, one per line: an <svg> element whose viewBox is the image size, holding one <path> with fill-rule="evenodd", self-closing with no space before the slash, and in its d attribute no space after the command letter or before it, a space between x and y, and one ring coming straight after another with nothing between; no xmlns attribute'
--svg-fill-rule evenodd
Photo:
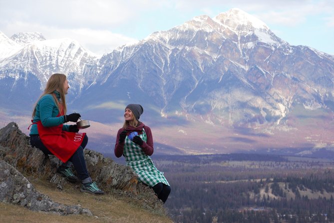
<svg viewBox="0 0 334 223"><path fill-rule="evenodd" d="M36 113L36 106L39 99L44 96L45 94L51 94L54 98L55 104L58 107L59 112L63 112L66 114L66 100L65 100L65 90L64 90L64 82L66 81L66 75L62 73L53 73L50 78L47 80L46 87L44 89L44 93L42 93L36 103L34 104L34 108L32 111L32 118L35 116ZM59 91L60 93L60 103L56 96L54 95L53 91ZM61 105L61 106L60 106ZM62 111L60 110L62 108Z"/></svg>

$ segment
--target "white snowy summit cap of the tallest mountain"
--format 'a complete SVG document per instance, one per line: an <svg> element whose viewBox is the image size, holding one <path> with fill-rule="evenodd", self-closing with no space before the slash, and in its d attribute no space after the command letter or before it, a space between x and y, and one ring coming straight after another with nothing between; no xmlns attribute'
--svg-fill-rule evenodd
<svg viewBox="0 0 334 223"><path fill-rule="evenodd" d="M269 29L266 23L239 8L232 8L220 13L213 20L235 30L241 27L244 28L245 26L248 26L250 29Z"/></svg>

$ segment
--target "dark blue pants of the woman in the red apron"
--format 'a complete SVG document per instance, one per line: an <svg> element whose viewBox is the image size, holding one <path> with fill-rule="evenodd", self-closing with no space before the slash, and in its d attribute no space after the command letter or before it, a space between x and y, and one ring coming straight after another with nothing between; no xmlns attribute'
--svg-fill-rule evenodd
<svg viewBox="0 0 334 223"><path fill-rule="evenodd" d="M74 154L68 159L74 165L75 171L78 174L80 180L87 179L89 176L85 157L83 154L83 149L88 143L88 137L85 137L82 140L81 145L76 149ZM52 155L52 153L45 147L43 142L40 140L39 135L30 135L30 144L36 148L39 148L45 155ZM66 162L67 163L67 162ZM63 163L62 166L66 166L66 163Z"/></svg>

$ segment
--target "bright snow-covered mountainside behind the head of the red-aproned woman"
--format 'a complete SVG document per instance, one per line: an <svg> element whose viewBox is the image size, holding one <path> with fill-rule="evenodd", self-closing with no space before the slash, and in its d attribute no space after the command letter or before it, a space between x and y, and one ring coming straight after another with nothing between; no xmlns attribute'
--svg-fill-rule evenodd
<svg viewBox="0 0 334 223"><path fill-rule="evenodd" d="M94 64L95 59L79 42L70 38L35 40L20 46L17 52L0 60L0 67L33 72L42 83L50 73L78 73L73 79L81 86L86 81L82 78L85 64Z"/></svg>

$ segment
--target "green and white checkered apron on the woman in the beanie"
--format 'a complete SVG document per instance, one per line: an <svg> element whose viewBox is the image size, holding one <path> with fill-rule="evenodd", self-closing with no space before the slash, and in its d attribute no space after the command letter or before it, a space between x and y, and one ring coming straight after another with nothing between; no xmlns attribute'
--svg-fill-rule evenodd
<svg viewBox="0 0 334 223"><path fill-rule="evenodd" d="M143 133L138 135L143 141L146 142L147 136L143 128ZM138 181L143 182L149 186L162 182L169 185L163 172L160 172L153 164L150 156L146 155L142 148L136 143L132 142L128 136L125 138L123 155L126 160L126 164L136 172Z"/></svg>

